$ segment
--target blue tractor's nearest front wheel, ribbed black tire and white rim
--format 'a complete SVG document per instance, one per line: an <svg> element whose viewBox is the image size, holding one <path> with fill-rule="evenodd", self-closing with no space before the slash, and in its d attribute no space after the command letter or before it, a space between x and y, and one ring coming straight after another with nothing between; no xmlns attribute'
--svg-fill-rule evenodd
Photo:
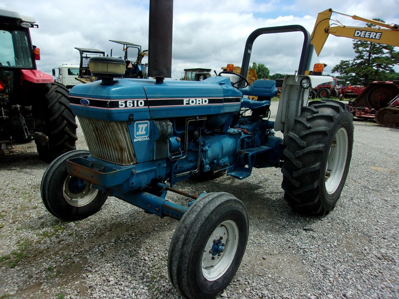
<svg viewBox="0 0 399 299"><path fill-rule="evenodd" d="M190 299L215 297L237 272L248 232L247 210L233 195L198 198L183 215L169 248L169 278L177 291Z"/></svg>

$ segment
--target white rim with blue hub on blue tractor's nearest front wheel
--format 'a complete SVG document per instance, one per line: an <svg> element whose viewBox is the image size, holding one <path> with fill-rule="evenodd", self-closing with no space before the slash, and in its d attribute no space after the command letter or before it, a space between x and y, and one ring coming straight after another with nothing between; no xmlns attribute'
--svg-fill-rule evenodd
<svg viewBox="0 0 399 299"><path fill-rule="evenodd" d="M227 271L238 248L239 231L232 220L223 221L210 234L202 254L202 275L215 281Z"/></svg>

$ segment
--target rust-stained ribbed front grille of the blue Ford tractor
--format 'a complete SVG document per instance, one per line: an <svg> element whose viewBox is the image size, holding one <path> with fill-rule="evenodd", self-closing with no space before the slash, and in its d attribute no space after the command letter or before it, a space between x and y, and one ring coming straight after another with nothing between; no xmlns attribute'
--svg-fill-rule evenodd
<svg viewBox="0 0 399 299"><path fill-rule="evenodd" d="M107 122L78 117L90 154L113 163L136 163L126 122Z"/></svg>

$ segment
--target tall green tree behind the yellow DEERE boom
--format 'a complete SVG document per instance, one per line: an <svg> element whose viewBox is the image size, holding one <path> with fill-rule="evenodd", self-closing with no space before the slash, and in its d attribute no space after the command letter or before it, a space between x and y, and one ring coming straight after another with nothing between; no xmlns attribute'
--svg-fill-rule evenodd
<svg viewBox="0 0 399 299"><path fill-rule="evenodd" d="M385 22L382 19L374 20ZM367 23L368 27L379 26ZM341 60L332 72L337 72L352 84L368 85L373 81L385 81L397 74L394 66L399 65L399 52L394 46L378 44L364 40L353 41L353 49L357 54L352 60Z"/></svg>

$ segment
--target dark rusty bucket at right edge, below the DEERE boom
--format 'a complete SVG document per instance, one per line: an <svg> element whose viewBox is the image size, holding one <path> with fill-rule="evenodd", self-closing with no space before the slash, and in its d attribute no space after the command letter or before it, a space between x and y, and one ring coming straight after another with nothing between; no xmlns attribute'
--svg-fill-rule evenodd
<svg viewBox="0 0 399 299"><path fill-rule="evenodd" d="M376 111L389 105L399 94L399 81L375 81L351 103L352 107L366 107Z"/></svg>

